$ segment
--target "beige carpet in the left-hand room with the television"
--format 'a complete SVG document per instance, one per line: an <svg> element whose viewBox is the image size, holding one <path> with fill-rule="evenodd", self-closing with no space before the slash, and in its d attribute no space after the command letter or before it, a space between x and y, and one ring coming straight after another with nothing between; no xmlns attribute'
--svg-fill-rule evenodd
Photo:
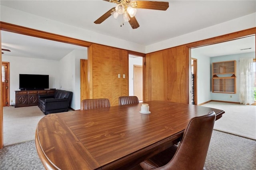
<svg viewBox="0 0 256 170"><path fill-rule="evenodd" d="M4 107L4 146L34 140L36 126L44 113L38 106Z"/></svg>

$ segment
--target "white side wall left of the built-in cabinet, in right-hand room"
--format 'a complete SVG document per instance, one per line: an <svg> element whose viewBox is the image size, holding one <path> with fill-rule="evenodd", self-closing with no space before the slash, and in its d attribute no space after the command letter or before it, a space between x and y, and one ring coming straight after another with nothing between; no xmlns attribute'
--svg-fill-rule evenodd
<svg viewBox="0 0 256 170"><path fill-rule="evenodd" d="M197 59L197 103L211 100L210 57L200 55L191 49L191 57Z"/></svg>

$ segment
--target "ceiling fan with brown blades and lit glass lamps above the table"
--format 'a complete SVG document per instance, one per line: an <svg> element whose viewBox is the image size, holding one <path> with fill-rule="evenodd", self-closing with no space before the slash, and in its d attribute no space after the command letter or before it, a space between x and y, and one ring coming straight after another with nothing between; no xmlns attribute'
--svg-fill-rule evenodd
<svg viewBox="0 0 256 170"><path fill-rule="evenodd" d="M135 18L136 8L150 9L150 10L167 10L169 2L158 1L140 1L140 0L104 0L112 3L116 3L116 7L111 8L103 14L98 20L94 21L95 24L100 24L105 21L111 15L116 19L119 15L122 15L123 23L129 22L132 29L138 28L140 25ZM122 25L121 25L122 26Z"/></svg>

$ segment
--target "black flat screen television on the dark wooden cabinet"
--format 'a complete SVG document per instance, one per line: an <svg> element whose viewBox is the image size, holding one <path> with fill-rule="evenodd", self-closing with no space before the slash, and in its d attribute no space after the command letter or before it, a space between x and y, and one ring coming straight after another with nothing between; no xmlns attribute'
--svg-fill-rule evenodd
<svg viewBox="0 0 256 170"><path fill-rule="evenodd" d="M20 90L44 90L49 88L49 75L20 74Z"/></svg>

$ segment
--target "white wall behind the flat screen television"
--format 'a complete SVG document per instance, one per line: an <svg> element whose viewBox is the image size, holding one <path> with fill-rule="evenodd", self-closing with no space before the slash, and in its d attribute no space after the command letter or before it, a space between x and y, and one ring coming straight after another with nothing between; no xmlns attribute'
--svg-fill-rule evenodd
<svg viewBox="0 0 256 170"><path fill-rule="evenodd" d="M8 55L2 56L2 61L10 63L10 100L13 102L15 91L19 90L19 74L49 75L49 88L59 87L59 61Z"/></svg>

